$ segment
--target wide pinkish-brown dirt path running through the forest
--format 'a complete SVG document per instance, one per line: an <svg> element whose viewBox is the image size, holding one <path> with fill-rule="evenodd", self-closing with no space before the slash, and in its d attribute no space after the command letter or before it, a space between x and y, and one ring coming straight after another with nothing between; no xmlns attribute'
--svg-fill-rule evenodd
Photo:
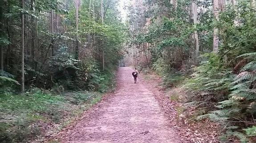
<svg viewBox="0 0 256 143"><path fill-rule="evenodd" d="M135 85L131 72L131 68L119 69L114 95L62 131L61 143L182 143L168 126L150 86L140 77Z"/></svg>

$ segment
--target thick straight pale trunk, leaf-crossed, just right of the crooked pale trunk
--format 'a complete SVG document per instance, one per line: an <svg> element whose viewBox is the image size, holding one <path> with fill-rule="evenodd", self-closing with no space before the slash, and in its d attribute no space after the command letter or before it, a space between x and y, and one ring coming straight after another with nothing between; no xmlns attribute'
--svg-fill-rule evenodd
<svg viewBox="0 0 256 143"><path fill-rule="evenodd" d="M219 20L219 0L213 0L213 15L215 20ZM219 51L219 30L214 27L213 29L213 52L218 53Z"/></svg>

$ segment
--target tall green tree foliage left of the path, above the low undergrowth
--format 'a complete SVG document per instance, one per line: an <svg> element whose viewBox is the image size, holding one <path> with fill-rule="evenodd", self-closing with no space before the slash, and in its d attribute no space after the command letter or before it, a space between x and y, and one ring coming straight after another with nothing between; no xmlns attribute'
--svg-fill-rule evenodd
<svg viewBox="0 0 256 143"><path fill-rule="evenodd" d="M97 89L122 56L125 29L116 1L80 1L78 28L73 0L6 0L1 4L1 70L21 82L20 15L25 16L25 86L52 89ZM78 43L77 43L78 42ZM78 47L78 48L77 48ZM106 70L102 70L104 62ZM104 73L105 72L105 73ZM2 75L4 76L4 75ZM98 82L96 82L98 81ZM20 83L21 84L21 83ZM19 86L17 86L18 88Z"/></svg>

